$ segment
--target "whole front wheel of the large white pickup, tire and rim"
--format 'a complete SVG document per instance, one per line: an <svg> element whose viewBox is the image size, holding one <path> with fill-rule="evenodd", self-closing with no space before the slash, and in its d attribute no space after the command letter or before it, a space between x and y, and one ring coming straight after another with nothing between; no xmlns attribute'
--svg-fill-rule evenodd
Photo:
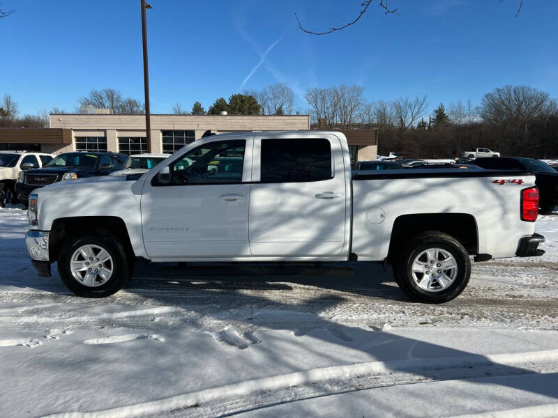
<svg viewBox="0 0 558 418"><path fill-rule="evenodd" d="M106 297L126 286L131 268L120 240L99 233L70 238L60 251L58 272L75 295Z"/></svg>

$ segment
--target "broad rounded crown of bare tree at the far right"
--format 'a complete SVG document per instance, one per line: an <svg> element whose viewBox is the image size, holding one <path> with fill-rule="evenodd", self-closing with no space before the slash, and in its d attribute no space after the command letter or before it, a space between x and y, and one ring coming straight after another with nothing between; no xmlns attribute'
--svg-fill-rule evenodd
<svg viewBox="0 0 558 418"><path fill-rule="evenodd" d="M485 122L526 123L542 116L557 114L556 100L548 93L528 86L504 86L486 93L478 109Z"/></svg>

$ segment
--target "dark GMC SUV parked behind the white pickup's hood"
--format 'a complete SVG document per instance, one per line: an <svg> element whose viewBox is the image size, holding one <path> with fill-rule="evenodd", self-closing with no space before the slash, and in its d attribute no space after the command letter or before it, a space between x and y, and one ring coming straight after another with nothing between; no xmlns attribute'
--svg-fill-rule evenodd
<svg viewBox="0 0 558 418"><path fill-rule="evenodd" d="M27 205L29 194L39 187L56 181L74 180L93 176L108 176L113 171L123 169L128 155L116 153L90 153L76 151L56 155L42 169L31 169L20 177L15 185L17 200ZM23 180L21 182L20 180Z"/></svg>

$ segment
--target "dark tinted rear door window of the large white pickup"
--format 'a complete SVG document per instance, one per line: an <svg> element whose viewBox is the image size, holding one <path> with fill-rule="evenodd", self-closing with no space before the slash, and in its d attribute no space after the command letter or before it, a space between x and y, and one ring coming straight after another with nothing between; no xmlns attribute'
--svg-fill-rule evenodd
<svg viewBox="0 0 558 418"><path fill-rule="evenodd" d="M296 183L329 180L331 144L324 138L262 139L260 181Z"/></svg>

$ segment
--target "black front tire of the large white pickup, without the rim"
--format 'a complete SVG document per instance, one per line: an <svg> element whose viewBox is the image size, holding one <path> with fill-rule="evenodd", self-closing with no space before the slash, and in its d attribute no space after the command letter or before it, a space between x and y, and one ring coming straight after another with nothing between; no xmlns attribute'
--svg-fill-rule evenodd
<svg viewBox="0 0 558 418"><path fill-rule="evenodd" d="M105 249L112 258L112 274L102 285L90 287L81 284L73 277L70 260L74 251L83 245L96 245ZM81 297L107 297L126 286L132 275L133 262L126 254L121 241L110 233L72 237L62 246L58 258L58 272L70 291Z"/></svg>

